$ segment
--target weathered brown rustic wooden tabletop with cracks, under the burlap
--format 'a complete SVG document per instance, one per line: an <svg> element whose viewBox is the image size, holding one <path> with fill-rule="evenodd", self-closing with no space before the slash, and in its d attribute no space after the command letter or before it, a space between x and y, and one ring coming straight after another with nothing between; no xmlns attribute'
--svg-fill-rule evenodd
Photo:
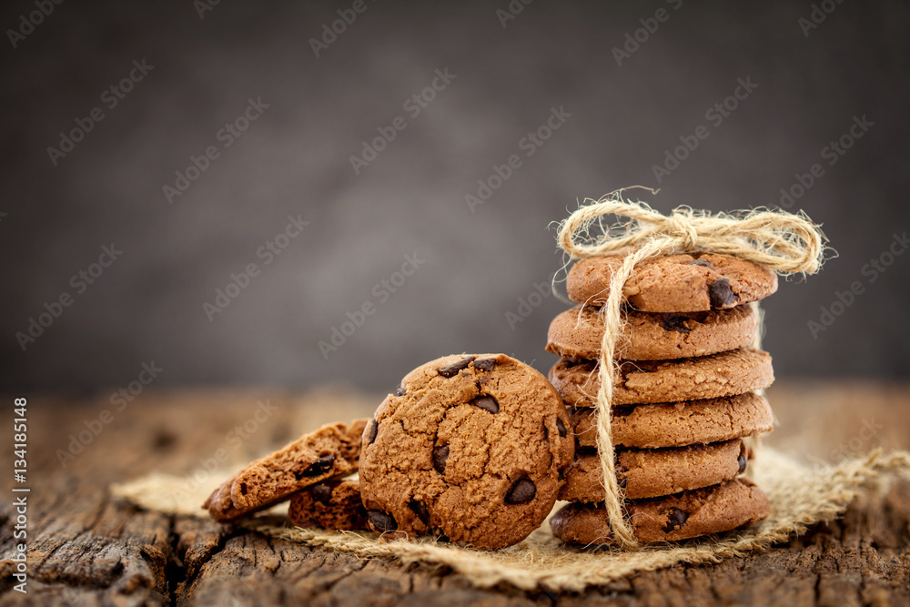
<svg viewBox="0 0 910 607"><path fill-rule="evenodd" d="M910 386L782 381L769 399L779 427L768 444L804 460L910 448ZM905 481L763 554L643 573L581 594L476 589L444 568L137 511L107 491L112 481L151 470L204 476L213 466L227 469L322 423L369 415L379 399L332 388L221 389L144 393L124 402L118 410L122 403L113 406L108 395L29 400L28 594L13 590L15 564L6 560L15 524L7 447L0 459L0 470L9 470L0 498L0 604L910 604ZM102 410L110 417L102 419ZM99 422L90 442L78 442L80 431L98 430ZM72 458L62 455L79 447ZM229 459L217 462L219 450Z"/></svg>

